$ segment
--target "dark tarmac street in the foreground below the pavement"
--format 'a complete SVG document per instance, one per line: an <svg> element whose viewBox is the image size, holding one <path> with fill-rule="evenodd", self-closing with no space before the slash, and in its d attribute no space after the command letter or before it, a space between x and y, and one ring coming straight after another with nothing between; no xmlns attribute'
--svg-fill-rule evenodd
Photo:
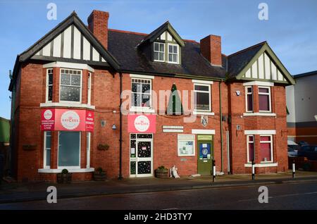
<svg viewBox="0 0 317 224"><path fill-rule="evenodd" d="M108 194L91 197L0 204L0 209L97 210L215 210L317 209L317 181L275 183L268 187L268 203L260 203L261 185Z"/></svg>

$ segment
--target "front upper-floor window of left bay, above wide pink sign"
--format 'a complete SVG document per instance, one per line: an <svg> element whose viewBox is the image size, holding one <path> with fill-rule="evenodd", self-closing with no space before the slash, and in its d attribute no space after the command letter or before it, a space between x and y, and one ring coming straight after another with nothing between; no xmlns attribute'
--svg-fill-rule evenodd
<svg viewBox="0 0 317 224"><path fill-rule="evenodd" d="M81 102L82 71L61 68L59 87L60 101Z"/></svg>

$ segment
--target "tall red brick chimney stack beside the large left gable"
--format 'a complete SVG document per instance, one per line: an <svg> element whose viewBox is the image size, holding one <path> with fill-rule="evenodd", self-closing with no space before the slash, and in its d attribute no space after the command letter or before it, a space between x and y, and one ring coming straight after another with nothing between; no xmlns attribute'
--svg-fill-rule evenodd
<svg viewBox="0 0 317 224"><path fill-rule="evenodd" d="M106 49L108 49L108 18L108 12L94 10L87 19L89 30Z"/></svg>

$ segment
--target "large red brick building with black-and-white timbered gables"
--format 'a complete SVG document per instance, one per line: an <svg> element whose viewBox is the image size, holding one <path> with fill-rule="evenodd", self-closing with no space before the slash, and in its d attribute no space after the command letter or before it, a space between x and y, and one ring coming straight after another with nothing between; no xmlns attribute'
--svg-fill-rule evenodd
<svg viewBox="0 0 317 224"><path fill-rule="evenodd" d="M285 86L294 80L266 42L230 56L221 37L182 39L166 22L149 35L72 13L19 54L12 92L13 173L89 180L287 170ZM175 91L177 89L178 91ZM120 93L121 97L120 97ZM121 113L120 113L121 112ZM137 115L135 115L137 113Z"/></svg>

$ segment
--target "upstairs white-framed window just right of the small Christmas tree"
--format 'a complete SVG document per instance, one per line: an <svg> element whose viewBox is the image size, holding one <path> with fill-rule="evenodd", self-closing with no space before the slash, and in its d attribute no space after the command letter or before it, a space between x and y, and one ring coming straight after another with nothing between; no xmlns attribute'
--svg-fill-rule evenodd
<svg viewBox="0 0 317 224"><path fill-rule="evenodd" d="M194 83L194 110L211 111L210 85Z"/></svg>

